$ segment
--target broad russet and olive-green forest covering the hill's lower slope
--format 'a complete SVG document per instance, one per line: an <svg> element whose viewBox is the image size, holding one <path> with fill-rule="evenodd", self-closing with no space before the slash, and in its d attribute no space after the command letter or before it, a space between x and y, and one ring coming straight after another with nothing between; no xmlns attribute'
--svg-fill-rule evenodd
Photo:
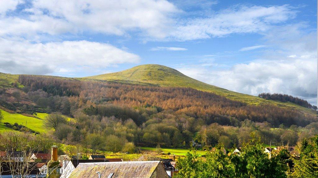
<svg viewBox="0 0 318 178"><path fill-rule="evenodd" d="M314 116L273 105L247 105L191 88L30 75L20 75L19 83L24 97L36 105L2 100L2 107L50 113L45 126L52 132L43 137L93 151L118 152L126 144L189 148L190 142L206 148L221 143L230 149L251 139L251 132L266 144L294 146L318 134ZM104 142L117 145L110 148L113 144Z"/></svg>

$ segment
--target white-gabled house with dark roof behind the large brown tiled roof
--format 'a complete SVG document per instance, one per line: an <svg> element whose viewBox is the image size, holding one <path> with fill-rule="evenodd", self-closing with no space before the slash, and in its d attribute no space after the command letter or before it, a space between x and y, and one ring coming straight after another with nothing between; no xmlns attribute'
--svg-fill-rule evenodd
<svg viewBox="0 0 318 178"><path fill-rule="evenodd" d="M61 178L68 178L72 171L79 165L79 163L90 163L90 162L108 162L106 159L102 160L91 160L91 159L71 159L63 160L61 162Z"/></svg>

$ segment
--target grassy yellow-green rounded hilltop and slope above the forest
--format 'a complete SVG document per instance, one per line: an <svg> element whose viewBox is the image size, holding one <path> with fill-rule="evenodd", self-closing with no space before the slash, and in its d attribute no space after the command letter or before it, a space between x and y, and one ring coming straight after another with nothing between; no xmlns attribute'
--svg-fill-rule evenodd
<svg viewBox="0 0 318 178"><path fill-rule="evenodd" d="M191 87L205 92L212 92L221 96L225 96L228 99L244 102L251 105L269 104L315 114L315 112L311 109L296 105L291 102L284 103L280 101L266 100L256 96L233 92L224 88L209 85L196 79L190 78L177 71L176 69L157 64L140 65L120 72L106 73L80 79L94 79L108 82L141 84L149 86Z"/></svg>

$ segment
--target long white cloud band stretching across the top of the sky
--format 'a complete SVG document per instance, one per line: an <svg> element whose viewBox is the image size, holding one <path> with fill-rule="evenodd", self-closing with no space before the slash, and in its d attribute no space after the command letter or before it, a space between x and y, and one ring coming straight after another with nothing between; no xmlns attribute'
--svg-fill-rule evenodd
<svg viewBox="0 0 318 178"><path fill-rule="evenodd" d="M4 6L12 9L17 1ZM183 11L166 0L34 0L23 16L0 18L0 35L59 35L94 33L138 34L147 40L196 40L233 33L263 33L272 25L294 18L288 5L234 6L214 14L180 18ZM1 12L1 10L0 10ZM29 14L27 14L27 13ZM31 15L30 15L31 13Z"/></svg>

